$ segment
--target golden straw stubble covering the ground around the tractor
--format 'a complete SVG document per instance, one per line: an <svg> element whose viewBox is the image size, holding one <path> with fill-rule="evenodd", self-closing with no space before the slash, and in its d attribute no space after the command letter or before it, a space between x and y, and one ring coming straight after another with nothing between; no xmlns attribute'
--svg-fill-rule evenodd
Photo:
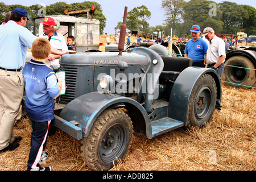
<svg viewBox="0 0 256 182"><path fill-rule="evenodd" d="M222 86L222 106L215 111L204 128L176 129L158 137L147 139L134 133L126 158L111 170L234 170L256 169L256 89L237 89ZM14 151L0 154L0 170L27 169L30 151L31 127L17 129L22 136ZM57 130L48 138L46 151L49 158L42 166L55 171L89 171L81 156L81 141Z"/></svg>

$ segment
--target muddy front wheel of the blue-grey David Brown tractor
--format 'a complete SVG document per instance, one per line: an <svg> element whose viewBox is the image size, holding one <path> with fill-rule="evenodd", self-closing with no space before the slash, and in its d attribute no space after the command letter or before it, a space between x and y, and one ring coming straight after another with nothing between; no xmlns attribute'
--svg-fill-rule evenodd
<svg viewBox="0 0 256 182"><path fill-rule="evenodd" d="M90 134L82 140L82 157L93 170L109 170L129 150L133 125L123 111L106 110L94 122Z"/></svg>

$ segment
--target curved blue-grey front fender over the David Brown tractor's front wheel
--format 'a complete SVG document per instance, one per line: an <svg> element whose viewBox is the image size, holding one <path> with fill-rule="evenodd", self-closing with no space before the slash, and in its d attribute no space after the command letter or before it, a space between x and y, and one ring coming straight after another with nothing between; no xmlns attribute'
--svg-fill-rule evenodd
<svg viewBox="0 0 256 182"><path fill-rule="evenodd" d="M150 120L144 107L129 97L123 97L117 94L103 94L99 92L84 94L69 102L61 111L59 117L69 122L76 121L79 123L79 127L82 129L82 137L86 138L98 116L104 110L108 108L113 109L113 106L120 104L129 108L133 107L137 111L137 117L141 117L139 121L144 122L141 124L145 127L143 129L144 133L151 133ZM133 121L133 118L131 119Z"/></svg>

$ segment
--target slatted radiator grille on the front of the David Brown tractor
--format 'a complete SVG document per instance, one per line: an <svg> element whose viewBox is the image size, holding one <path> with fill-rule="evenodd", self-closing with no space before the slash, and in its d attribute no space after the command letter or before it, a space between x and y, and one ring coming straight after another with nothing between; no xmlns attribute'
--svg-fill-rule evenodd
<svg viewBox="0 0 256 182"><path fill-rule="evenodd" d="M77 68L63 67L66 78L66 92L60 97L61 104L68 104L75 99L76 82L77 82Z"/></svg>

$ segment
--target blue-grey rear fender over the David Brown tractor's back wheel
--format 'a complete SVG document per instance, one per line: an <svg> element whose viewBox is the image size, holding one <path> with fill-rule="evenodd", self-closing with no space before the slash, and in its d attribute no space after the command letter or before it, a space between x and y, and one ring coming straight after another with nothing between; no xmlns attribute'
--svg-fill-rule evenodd
<svg viewBox="0 0 256 182"><path fill-rule="evenodd" d="M218 73L210 68L188 67L177 77L170 94L168 116L178 121L188 121L189 102L196 81L203 75L209 74L217 86L217 98L221 98L221 80Z"/></svg>

